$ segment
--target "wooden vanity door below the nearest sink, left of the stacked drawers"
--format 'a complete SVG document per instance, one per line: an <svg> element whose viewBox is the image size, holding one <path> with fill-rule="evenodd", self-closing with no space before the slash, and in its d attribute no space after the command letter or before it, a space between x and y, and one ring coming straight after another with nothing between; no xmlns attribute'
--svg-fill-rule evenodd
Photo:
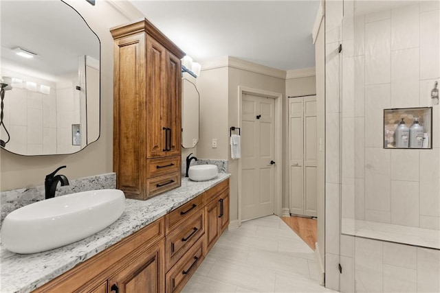
<svg viewBox="0 0 440 293"><path fill-rule="evenodd" d="M165 290L164 239L142 253L135 252L108 281L111 293L157 293Z"/></svg>

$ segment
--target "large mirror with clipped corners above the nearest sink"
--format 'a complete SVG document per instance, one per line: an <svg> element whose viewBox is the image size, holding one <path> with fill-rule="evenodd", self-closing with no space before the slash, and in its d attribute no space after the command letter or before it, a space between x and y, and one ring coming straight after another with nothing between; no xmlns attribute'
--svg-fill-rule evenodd
<svg viewBox="0 0 440 293"><path fill-rule="evenodd" d="M100 136L98 36L61 0L0 5L3 148L21 155L82 150Z"/></svg>

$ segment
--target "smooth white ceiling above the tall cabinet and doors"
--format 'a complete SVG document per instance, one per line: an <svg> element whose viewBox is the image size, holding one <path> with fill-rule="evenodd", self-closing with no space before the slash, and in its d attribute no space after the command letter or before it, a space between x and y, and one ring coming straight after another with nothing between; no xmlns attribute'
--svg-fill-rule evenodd
<svg viewBox="0 0 440 293"><path fill-rule="evenodd" d="M131 3L197 62L233 56L283 70L315 66L320 0Z"/></svg>

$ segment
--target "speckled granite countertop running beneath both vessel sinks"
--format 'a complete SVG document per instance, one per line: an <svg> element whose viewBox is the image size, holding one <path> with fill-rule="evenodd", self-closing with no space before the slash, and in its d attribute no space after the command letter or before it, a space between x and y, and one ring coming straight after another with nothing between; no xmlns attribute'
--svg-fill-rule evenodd
<svg viewBox="0 0 440 293"><path fill-rule="evenodd" d="M218 174L217 178L203 182L182 178L181 187L165 194L145 201L126 199L125 211L116 222L95 235L61 248L19 255L0 245L0 292L23 293L39 288L229 177L230 174Z"/></svg>

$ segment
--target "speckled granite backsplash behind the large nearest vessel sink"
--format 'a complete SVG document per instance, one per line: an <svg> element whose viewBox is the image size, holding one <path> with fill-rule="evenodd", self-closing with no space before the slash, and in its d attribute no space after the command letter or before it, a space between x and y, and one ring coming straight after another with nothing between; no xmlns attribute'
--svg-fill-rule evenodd
<svg viewBox="0 0 440 293"><path fill-rule="evenodd" d="M116 174L107 173L96 176L89 176L84 178L69 180L69 185L58 186L56 188L56 196L64 196L65 194L73 194L75 192L89 191L95 189L115 189L116 188ZM8 213L45 199L44 185L36 187L27 187L21 189L13 189L10 191L0 192L0 227L3 224L3 219Z"/></svg>

